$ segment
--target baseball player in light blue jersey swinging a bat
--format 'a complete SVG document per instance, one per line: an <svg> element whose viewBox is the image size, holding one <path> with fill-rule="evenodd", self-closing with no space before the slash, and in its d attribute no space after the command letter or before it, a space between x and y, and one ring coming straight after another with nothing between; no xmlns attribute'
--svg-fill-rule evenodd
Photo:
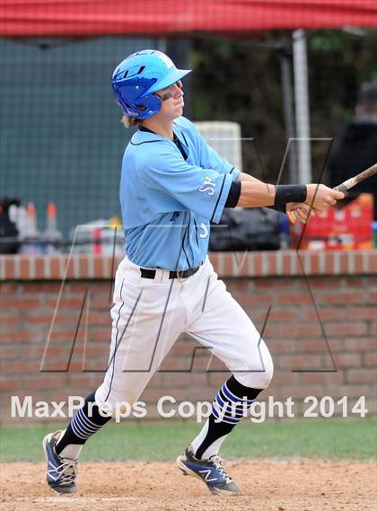
<svg viewBox="0 0 377 511"><path fill-rule="evenodd" d="M146 49L123 60L112 76L123 122L138 128L127 145L120 180L126 257L115 278L103 383L64 431L43 440L48 485L59 493L75 492L83 444L119 403L138 400L182 332L219 357L232 375L177 464L214 494L241 492L218 453L270 383L273 363L249 316L208 260L210 223L219 222L224 207L236 206L292 210L304 222L307 204L318 213L344 197L323 185L264 183L216 154L182 117L181 79L189 72L162 52Z"/></svg>

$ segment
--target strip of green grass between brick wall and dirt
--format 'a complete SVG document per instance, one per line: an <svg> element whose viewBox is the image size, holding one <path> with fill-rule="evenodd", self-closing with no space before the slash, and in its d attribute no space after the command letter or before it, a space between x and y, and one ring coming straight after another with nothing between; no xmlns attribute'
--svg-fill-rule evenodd
<svg viewBox="0 0 377 511"><path fill-rule="evenodd" d="M41 441L62 426L3 427L0 461L41 461ZM197 435L190 422L109 424L85 445L83 461L171 460ZM375 460L377 420L306 419L236 427L222 449L227 459L317 457Z"/></svg>

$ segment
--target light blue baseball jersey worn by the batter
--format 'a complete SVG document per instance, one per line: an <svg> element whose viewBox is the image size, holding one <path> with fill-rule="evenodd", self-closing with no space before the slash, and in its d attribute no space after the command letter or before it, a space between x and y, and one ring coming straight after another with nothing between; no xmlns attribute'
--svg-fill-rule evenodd
<svg viewBox="0 0 377 511"><path fill-rule="evenodd" d="M210 222L219 222L240 171L217 154L189 119L169 138L138 130L123 156L120 204L127 257L143 268L184 270L206 260Z"/></svg>

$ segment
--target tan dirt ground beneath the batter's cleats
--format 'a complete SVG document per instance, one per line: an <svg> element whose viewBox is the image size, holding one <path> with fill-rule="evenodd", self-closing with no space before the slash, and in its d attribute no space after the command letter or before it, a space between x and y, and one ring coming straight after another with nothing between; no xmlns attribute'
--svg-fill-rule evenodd
<svg viewBox="0 0 377 511"><path fill-rule="evenodd" d="M9 511L376 511L377 463L228 462L239 497L215 497L174 463L81 463L79 491L61 497L45 463L0 465L0 509Z"/></svg>

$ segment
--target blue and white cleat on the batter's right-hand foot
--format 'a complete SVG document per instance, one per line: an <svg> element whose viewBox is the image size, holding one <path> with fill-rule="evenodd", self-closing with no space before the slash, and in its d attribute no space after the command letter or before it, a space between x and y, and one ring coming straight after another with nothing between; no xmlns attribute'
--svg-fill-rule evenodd
<svg viewBox="0 0 377 511"><path fill-rule="evenodd" d="M242 493L239 485L225 471L223 460L217 454L208 460L199 460L194 456L191 445L188 445L184 454L177 458L177 466L184 475L203 480L214 495L240 495Z"/></svg>

